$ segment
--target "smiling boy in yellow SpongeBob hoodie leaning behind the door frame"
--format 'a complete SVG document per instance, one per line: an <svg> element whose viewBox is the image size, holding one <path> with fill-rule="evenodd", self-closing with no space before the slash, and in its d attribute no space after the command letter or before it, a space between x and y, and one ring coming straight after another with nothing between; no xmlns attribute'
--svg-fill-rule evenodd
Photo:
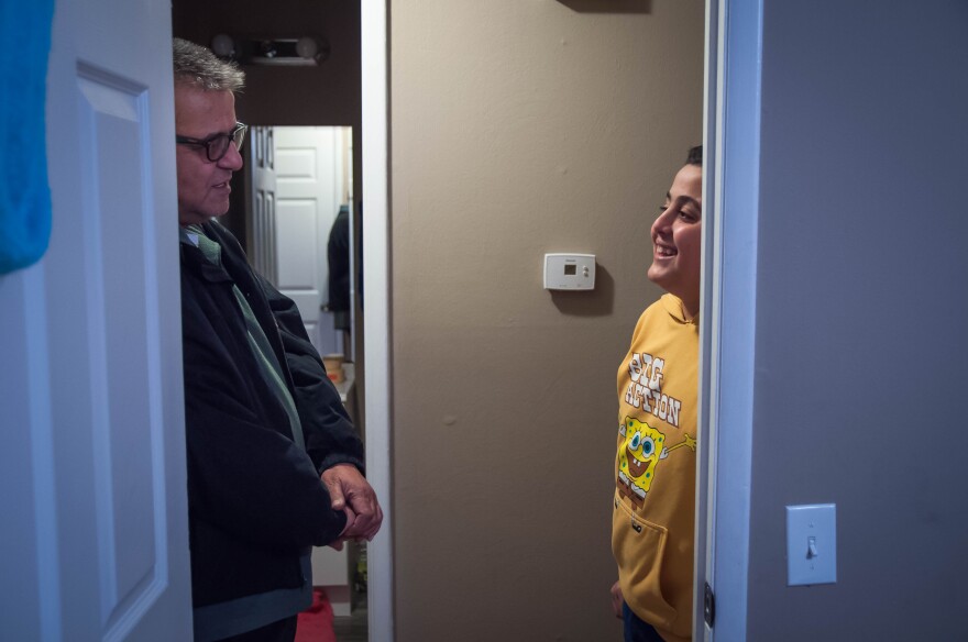
<svg viewBox="0 0 968 642"><path fill-rule="evenodd" d="M613 607L626 642L692 639L703 148L689 152L652 223L642 312L618 368Z"/></svg>

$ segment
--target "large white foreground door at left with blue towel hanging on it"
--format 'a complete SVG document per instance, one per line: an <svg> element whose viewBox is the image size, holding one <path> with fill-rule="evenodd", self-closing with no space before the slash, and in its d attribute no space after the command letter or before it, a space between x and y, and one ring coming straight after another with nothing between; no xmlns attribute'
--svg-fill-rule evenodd
<svg viewBox="0 0 968 642"><path fill-rule="evenodd" d="M191 639L170 37L56 3L51 245L0 276L4 639Z"/></svg>

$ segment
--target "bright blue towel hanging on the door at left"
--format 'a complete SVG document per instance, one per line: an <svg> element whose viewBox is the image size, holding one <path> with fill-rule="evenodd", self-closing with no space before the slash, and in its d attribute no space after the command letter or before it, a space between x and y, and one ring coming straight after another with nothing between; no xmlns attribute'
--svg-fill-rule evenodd
<svg viewBox="0 0 968 642"><path fill-rule="evenodd" d="M54 0L0 0L0 274L47 250L44 109Z"/></svg>

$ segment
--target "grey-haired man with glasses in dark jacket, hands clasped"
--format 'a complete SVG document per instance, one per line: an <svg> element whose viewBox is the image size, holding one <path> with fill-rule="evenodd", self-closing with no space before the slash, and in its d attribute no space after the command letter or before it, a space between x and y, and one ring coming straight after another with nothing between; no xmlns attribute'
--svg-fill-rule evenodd
<svg viewBox="0 0 968 642"><path fill-rule="evenodd" d="M174 64L195 639L290 642L310 546L372 539L383 513L298 309L216 220L242 168L244 76L178 38Z"/></svg>

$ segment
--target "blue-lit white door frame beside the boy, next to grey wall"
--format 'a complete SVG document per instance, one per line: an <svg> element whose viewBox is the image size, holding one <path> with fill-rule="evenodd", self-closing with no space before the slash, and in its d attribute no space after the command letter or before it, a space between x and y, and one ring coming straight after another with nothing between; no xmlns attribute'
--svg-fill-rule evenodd
<svg viewBox="0 0 968 642"><path fill-rule="evenodd" d="M707 642L746 640L761 45L762 0L707 0L694 613L694 638Z"/></svg>

